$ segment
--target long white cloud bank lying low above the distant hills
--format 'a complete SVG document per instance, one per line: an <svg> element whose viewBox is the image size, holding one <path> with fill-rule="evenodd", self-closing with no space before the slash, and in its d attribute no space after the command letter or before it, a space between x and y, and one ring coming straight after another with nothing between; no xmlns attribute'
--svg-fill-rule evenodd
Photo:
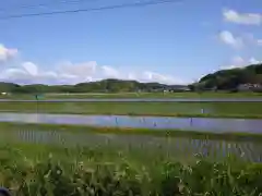
<svg viewBox="0 0 262 196"><path fill-rule="evenodd" d="M105 78L135 79L140 82L158 82L164 84L187 84L182 79L155 72L121 72L112 66L97 65L96 62L63 63L56 71L44 71L33 62L21 63L20 66L7 68L0 73L0 79L21 84L76 84Z"/></svg>

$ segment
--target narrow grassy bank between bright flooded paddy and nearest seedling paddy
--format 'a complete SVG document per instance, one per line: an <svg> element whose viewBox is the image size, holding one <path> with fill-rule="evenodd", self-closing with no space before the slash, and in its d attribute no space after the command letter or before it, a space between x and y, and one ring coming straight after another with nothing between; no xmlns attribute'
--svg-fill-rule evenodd
<svg viewBox="0 0 262 196"><path fill-rule="evenodd" d="M94 127L83 125L56 125L56 124L21 124L0 123L1 132L19 130L56 131L78 133L99 133L118 135L151 135L159 137L190 137L192 139L223 139L223 140L252 140L262 142L262 134L237 133L237 132L200 132L184 130L150 130L150 128L117 128L117 127Z"/></svg>

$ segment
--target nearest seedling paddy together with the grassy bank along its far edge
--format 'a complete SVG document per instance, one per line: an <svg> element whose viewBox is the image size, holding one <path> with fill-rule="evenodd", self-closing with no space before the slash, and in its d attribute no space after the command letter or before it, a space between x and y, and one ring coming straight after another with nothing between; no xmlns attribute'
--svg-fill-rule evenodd
<svg viewBox="0 0 262 196"><path fill-rule="evenodd" d="M1 123L1 143L25 143L63 147L106 146L115 149L136 149L155 155L170 155L181 160L203 154L221 159L227 154L245 156L250 161L261 161L260 134L201 133L179 130L114 128L51 124Z"/></svg>

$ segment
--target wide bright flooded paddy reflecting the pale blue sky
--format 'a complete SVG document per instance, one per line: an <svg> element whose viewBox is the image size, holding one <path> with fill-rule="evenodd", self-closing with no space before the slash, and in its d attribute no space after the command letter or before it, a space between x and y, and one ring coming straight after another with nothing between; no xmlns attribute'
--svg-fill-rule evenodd
<svg viewBox="0 0 262 196"><path fill-rule="evenodd" d="M34 114L0 113L0 122L80 124L94 126L179 128L202 132L261 133L262 120L252 119L210 119L210 118L165 118L128 115L76 115L76 114Z"/></svg>

